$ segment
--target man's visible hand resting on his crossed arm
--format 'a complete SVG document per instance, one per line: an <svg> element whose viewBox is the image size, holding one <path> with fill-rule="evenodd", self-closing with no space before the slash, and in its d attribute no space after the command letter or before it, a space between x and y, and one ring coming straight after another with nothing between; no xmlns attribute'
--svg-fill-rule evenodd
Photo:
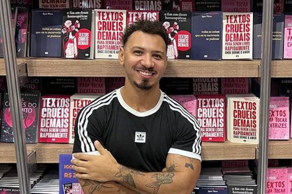
<svg viewBox="0 0 292 194"><path fill-rule="evenodd" d="M117 174L119 164L112 154L104 149L100 142L94 142L95 148L99 151L100 156L92 156L82 153L74 154L76 159L71 162L76 176L79 179L89 179L100 182L114 180ZM119 171L118 171L119 172Z"/></svg>

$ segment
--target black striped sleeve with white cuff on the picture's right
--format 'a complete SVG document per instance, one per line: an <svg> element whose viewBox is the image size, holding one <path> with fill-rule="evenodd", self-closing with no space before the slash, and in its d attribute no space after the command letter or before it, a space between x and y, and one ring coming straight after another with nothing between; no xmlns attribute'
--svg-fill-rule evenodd
<svg viewBox="0 0 292 194"><path fill-rule="evenodd" d="M198 120L185 115L177 120L175 140L168 154L178 154L201 161L201 132Z"/></svg>

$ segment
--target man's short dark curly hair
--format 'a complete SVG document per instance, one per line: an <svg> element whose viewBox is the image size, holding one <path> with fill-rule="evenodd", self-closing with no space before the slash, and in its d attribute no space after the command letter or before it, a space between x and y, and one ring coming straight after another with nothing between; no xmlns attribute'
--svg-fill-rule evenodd
<svg viewBox="0 0 292 194"><path fill-rule="evenodd" d="M161 36L165 42L166 50L167 50L167 45L169 44L170 39L168 37L166 29L161 24L161 22L139 19L138 21L134 22L133 24L130 24L128 27L125 28L124 35L122 37L123 45L126 45L129 37L135 31L142 31L142 32L147 33L147 34L154 34L154 35Z"/></svg>

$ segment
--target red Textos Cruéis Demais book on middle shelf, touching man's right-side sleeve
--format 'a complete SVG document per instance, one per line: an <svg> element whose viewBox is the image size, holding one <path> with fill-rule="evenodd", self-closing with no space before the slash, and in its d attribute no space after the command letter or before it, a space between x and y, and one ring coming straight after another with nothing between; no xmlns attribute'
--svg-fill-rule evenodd
<svg viewBox="0 0 292 194"><path fill-rule="evenodd" d="M225 95L198 95L197 101L202 142L225 142Z"/></svg>

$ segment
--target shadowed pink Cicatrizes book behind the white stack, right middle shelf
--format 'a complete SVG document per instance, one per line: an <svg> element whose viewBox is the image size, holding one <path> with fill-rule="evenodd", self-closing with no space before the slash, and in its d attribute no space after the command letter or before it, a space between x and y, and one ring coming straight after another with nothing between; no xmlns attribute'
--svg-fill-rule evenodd
<svg viewBox="0 0 292 194"><path fill-rule="evenodd" d="M221 79L222 94L247 94L248 78L234 77Z"/></svg>

